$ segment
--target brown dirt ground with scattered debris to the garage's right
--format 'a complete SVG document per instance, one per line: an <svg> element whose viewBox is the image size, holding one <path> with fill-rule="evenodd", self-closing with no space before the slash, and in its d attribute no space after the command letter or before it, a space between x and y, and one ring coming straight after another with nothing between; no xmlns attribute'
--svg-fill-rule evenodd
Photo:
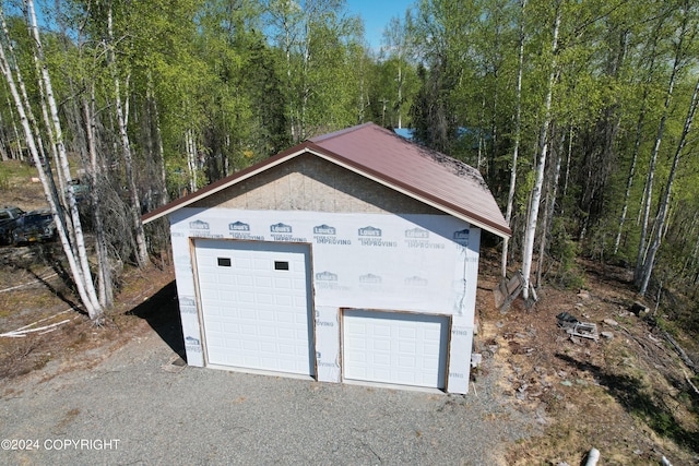
<svg viewBox="0 0 699 466"><path fill-rule="evenodd" d="M497 277L498 265L482 263L482 274ZM544 288L531 308L516 299L500 310L487 289L497 278L481 285L476 349L508 373L502 394L545 427L512 445L508 464L584 464L593 447L607 465L699 464L689 366L647 320L630 279L617 278L623 270L582 265L599 268L585 289Z"/></svg>

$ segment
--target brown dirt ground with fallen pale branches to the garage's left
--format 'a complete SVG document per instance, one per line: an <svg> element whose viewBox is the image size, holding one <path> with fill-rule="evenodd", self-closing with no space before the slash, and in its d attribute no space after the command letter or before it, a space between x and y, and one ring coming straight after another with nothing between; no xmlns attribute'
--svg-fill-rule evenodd
<svg viewBox="0 0 699 466"><path fill-rule="evenodd" d="M97 363L125 335L179 327L171 268L127 270L114 309L96 326L81 311L67 272L56 265L60 254L57 243L0 248L0 379L50 361L64 370Z"/></svg>

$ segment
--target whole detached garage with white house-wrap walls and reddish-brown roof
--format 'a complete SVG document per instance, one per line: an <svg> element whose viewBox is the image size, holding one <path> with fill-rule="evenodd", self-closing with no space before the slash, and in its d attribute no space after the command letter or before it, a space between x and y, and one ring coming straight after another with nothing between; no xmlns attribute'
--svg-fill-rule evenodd
<svg viewBox="0 0 699 466"><path fill-rule="evenodd" d="M190 366L466 393L477 170L374 123L315 138L168 216Z"/></svg>

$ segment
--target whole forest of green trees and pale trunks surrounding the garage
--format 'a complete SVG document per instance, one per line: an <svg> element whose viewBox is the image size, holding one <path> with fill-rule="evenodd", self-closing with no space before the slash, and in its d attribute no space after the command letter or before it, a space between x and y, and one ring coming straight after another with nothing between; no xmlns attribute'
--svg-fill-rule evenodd
<svg viewBox="0 0 699 466"><path fill-rule="evenodd" d="M503 267L533 288L580 286L584 255L632 268L649 298L697 296L695 1L418 0L379 50L343 0L5 0L0 13L0 154L40 167L92 316L120 264L166 241L143 212L366 121L478 168L512 227Z"/></svg>

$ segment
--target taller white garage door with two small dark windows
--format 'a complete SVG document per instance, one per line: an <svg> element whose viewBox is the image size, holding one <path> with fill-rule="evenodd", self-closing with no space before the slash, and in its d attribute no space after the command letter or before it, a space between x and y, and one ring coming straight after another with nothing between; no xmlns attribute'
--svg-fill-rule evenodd
<svg viewBox="0 0 699 466"><path fill-rule="evenodd" d="M313 375L309 246L194 247L209 363Z"/></svg>

